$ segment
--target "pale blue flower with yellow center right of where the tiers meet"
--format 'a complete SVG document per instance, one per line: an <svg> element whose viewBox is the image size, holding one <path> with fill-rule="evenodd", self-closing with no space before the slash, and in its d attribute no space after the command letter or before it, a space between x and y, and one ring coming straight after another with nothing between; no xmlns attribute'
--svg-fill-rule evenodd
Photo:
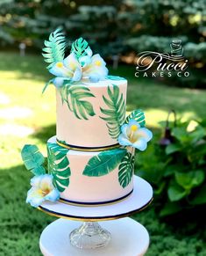
<svg viewBox="0 0 206 256"><path fill-rule="evenodd" d="M147 128L141 128L135 120L121 127L121 134L118 136L118 143L123 146L131 146L138 150L146 150L147 143L152 139L153 133Z"/></svg>

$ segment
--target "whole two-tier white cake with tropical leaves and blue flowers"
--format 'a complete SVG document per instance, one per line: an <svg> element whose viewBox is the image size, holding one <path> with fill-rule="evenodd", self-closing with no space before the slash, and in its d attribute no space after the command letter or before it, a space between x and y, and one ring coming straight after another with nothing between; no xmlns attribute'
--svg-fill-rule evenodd
<svg viewBox="0 0 206 256"><path fill-rule="evenodd" d="M135 149L146 150L152 138L144 113L126 116L127 81L109 76L86 40L75 40L64 58L65 37L57 29L45 46L43 56L55 77L43 91L56 87L56 136L47 142L47 160L35 145L22 150L34 174L27 202L92 206L124 200L133 189Z"/></svg>

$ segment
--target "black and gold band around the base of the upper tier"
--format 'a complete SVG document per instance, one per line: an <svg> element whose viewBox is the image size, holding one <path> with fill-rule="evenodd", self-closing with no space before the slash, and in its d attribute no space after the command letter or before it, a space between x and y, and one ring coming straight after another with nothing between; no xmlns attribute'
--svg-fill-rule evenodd
<svg viewBox="0 0 206 256"><path fill-rule="evenodd" d="M77 150L77 151L85 151L85 152L87 152L87 151L96 152L96 151L113 150L113 149L120 148L120 145L118 143L109 145L109 146L101 146L101 147L81 147L81 146L67 144L65 142L58 140L58 138L56 138L56 143L58 145L60 145L61 147L66 148L68 150Z"/></svg>

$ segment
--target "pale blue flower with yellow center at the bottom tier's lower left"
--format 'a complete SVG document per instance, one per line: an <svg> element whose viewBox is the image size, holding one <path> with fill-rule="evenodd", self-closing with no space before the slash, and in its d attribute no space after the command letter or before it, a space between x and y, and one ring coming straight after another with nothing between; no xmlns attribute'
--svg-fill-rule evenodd
<svg viewBox="0 0 206 256"><path fill-rule="evenodd" d="M39 207L43 201L57 201L60 198L60 192L53 187L53 176L42 174L31 179L32 188L27 193L26 202L32 207Z"/></svg>

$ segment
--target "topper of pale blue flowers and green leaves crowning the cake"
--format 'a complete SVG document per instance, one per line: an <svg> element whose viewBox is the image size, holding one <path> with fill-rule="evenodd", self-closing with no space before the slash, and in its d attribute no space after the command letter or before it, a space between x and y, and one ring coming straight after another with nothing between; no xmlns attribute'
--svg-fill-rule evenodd
<svg viewBox="0 0 206 256"><path fill-rule="evenodd" d="M84 78L96 83L108 75L106 62L100 55L93 55L88 42L82 38L73 42L70 55L66 58L66 39L60 28L50 34L49 40L45 40L45 46L42 55L49 63L47 69L55 76L52 82L56 87L61 87L68 81L76 82Z"/></svg>

